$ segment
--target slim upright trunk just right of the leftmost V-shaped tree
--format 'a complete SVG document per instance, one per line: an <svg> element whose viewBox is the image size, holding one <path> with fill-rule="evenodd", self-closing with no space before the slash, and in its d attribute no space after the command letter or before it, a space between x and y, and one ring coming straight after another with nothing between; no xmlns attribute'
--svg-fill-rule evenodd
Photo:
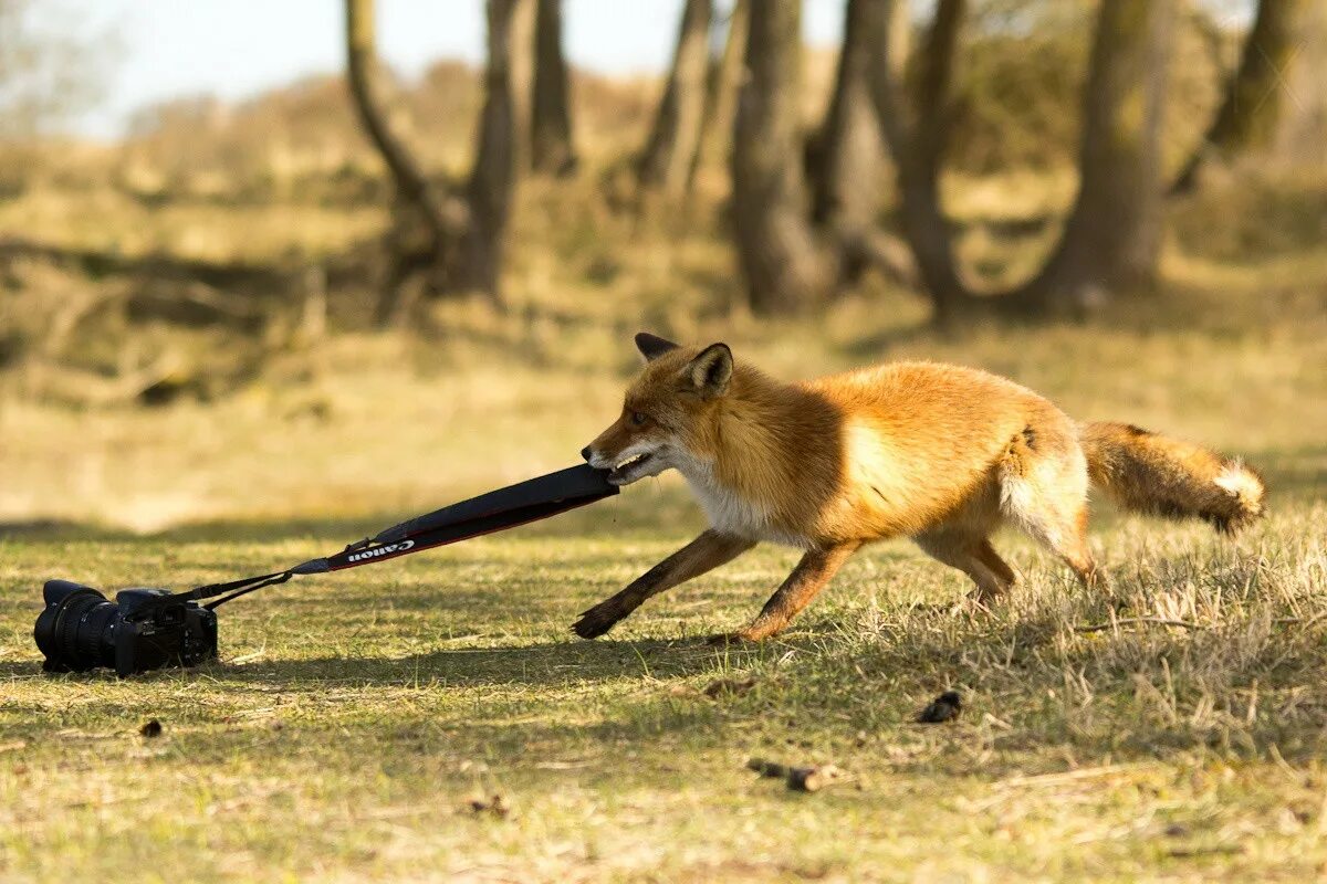
<svg viewBox="0 0 1327 884"><path fill-rule="evenodd" d="M565 176L576 171L567 60L563 57L563 3L537 0L535 17L535 87L531 107L531 166L536 172Z"/></svg>

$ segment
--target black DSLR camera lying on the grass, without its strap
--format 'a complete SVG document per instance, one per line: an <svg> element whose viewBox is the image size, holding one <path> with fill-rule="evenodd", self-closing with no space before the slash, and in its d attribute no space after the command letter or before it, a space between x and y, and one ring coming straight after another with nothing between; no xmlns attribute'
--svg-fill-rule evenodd
<svg viewBox="0 0 1327 884"><path fill-rule="evenodd" d="M46 580L46 607L33 637L45 672L114 667L123 679L161 667L194 667L216 656L216 615L169 590L105 595L72 580Z"/></svg>

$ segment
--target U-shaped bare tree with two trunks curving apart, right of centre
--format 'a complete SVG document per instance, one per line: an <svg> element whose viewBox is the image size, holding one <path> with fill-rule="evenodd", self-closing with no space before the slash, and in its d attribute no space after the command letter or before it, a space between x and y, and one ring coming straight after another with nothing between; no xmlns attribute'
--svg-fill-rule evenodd
<svg viewBox="0 0 1327 884"><path fill-rule="evenodd" d="M1101 0L1084 90L1080 186L1064 232L1042 270L1002 306L1072 311L1156 274L1161 237L1160 142L1176 0ZM940 205L954 46L963 0L940 0L909 109L888 64L876 105L896 158L904 229L921 278L947 322L974 306Z"/></svg>

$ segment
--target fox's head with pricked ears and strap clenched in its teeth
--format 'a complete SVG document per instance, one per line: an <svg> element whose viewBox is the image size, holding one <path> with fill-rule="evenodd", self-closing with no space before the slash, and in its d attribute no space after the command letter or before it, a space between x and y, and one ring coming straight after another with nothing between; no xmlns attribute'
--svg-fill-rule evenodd
<svg viewBox="0 0 1327 884"><path fill-rule="evenodd" d="M636 335L645 368L626 388L622 414L581 449L608 481L630 485L669 468L685 468L706 451L719 400L733 379L726 343L682 347L649 333Z"/></svg>

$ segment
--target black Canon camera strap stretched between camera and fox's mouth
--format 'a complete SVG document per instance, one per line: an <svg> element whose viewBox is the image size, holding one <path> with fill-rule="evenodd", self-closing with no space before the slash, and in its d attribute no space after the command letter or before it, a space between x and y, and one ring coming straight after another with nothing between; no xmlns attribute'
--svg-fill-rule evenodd
<svg viewBox="0 0 1327 884"><path fill-rule="evenodd" d="M285 583L293 577L344 571L482 534L492 534L617 494L621 489L609 484L606 477L606 470L594 469L588 464L560 469L556 473L499 488L487 494L417 516L384 529L373 537L350 543L334 555L309 559L285 571L198 586L187 592L162 596L162 600L216 599L204 606L212 610L265 586Z"/></svg>

